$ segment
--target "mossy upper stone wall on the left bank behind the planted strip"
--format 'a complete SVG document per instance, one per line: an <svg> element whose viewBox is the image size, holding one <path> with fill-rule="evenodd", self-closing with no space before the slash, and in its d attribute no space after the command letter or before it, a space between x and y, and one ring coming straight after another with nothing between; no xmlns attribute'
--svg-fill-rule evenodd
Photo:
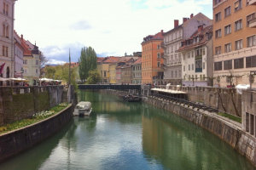
<svg viewBox="0 0 256 170"><path fill-rule="evenodd" d="M62 102L63 86L0 87L0 125L31 117Z"/></svg>

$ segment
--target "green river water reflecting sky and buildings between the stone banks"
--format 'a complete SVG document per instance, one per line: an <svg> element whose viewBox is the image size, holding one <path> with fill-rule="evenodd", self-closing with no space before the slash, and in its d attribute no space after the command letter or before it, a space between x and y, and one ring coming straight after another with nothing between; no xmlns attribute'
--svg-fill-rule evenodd
<svg viewBox="0 0 256 170"><path fill-rule="evenodd" d="M92 102L94 116L74 117L0 169L253 169L230 145L170 112L96 92L79 98Z"/></svg>

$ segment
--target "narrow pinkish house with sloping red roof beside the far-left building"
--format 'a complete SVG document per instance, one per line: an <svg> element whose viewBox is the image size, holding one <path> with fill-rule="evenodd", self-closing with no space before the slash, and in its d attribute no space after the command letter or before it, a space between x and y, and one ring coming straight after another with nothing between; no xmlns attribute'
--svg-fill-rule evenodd
<svg viewBox="0 0 256 170"><path fill-rule="evenodd" d="M15 31L15 75L14 77L22 77L23 75L23 54L24 54L24 48L21 45L21 38Z"/></svg>

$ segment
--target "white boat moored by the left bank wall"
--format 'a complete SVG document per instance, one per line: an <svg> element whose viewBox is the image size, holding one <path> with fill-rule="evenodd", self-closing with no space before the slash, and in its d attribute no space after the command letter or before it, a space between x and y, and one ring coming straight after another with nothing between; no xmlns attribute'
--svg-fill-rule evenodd
<svg viewBox="0 0 256 170"><path fill-rule="evenodd" d="M90 116L91 111L91 103L89 101L81 101L76 105L73 116Z"/></svg>

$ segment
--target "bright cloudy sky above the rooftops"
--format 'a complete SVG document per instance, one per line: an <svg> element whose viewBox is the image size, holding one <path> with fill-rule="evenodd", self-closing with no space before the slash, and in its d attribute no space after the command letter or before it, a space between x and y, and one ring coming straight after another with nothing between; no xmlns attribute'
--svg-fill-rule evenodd
<svg viewBox="0 0 256 170"><path fill-rule="evenodd" d="M200 12L212 19L212 0L18 0L15 31L63 64L69 48L73 62L89 46L99 57L141 51L143 37Z"/></svg>

